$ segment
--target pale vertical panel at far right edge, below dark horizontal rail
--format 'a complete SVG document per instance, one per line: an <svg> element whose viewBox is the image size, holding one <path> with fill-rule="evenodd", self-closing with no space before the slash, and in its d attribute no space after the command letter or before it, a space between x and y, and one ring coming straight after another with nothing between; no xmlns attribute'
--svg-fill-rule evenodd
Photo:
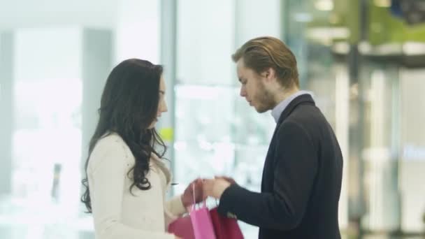
<svg viewBox="0 0 425 239"><path fill-rule="evenodd" d="M423 231L425 220L425 68L401 68L400 164L401 228Z"/></svg>

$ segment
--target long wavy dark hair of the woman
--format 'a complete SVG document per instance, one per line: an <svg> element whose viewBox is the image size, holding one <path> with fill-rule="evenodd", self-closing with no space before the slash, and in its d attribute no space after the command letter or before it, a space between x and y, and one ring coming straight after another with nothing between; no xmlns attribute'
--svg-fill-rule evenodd
<svg viewBox="0 0 425 239"><path fill-rule="evenodd" d="M129 188L150 189L146 175L150 170L150 157L156 154L163 158L166 152L164 141L157 131L149 126L157 117L159 107L159 82L163 68L142 59L127 59L113 68L101 97L99 122L89 143L89 155L85 163L85 192L81 201L92 212L87 166L97 141L110 133L117 133L129 146L136 163L127 173L134 180ZM155 150L159 145L162 152Z"/></svg>

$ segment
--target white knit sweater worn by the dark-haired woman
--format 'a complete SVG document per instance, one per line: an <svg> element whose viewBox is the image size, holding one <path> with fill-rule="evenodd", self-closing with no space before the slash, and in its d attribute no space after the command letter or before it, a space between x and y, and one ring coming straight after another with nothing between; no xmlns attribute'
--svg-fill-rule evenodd
<svg viewBox="0 0 425 239"><path fill-rule="evenodd" d="M116 133L101 138L90 155L87 174L96 239L173 239L166 227L186 210L180 196L164 200L171 173L152 156L147 174L151 189L134 187L131 194L127 173L134 162Z"/></svg>

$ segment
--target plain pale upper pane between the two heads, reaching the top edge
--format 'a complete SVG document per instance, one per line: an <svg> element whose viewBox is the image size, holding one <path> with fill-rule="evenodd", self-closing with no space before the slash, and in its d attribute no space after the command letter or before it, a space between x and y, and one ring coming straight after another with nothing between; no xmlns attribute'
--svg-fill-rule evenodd
<svg viewBox="0 0 425 239"><path fill-rule="evenodd" d="M178 82L230 85L233 1L185 0L177 8Z"/></svg>

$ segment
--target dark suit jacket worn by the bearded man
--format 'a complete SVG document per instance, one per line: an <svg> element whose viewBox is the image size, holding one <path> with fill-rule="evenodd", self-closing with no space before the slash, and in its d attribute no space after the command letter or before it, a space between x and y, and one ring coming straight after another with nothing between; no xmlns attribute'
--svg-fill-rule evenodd
<svg viewBox="0 0 425 239"><path fill-rule="evenodd" d="M343 156L308 94L280 115L264 162L261 193L232 184L219 213L259 226L260 239L340 238L338 201Z"/></svg>

